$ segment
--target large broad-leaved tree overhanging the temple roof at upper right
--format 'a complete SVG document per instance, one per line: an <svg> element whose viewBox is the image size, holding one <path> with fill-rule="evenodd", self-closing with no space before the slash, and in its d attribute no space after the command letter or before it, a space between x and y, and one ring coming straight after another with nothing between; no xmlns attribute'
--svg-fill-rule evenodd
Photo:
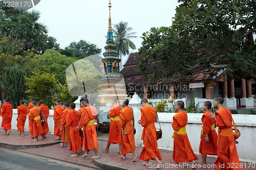
<svg viewBox="0 0 256 170"><path fill-rule="evenodd" d="M143 33L139 68L145 70L155 61L152 76L165 81L224 71L230 79L256 79L255 2L179 2L171 27Z"/></svg>

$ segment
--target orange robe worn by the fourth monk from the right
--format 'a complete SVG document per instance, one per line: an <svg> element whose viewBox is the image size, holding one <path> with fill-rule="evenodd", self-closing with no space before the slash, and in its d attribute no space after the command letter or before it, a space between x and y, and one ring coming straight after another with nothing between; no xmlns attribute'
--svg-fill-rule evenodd
<svg viewBox="0 0 256 170"><path fill-rule="evenodd" d="M141 109L140 122L144 127L142 131L141 140L143 140L144 148L140 153L140 159L155 160L157 157L162 160L161 154L157 147L157 133L155 127L156 109L151 106L143 106Z"/></svg>

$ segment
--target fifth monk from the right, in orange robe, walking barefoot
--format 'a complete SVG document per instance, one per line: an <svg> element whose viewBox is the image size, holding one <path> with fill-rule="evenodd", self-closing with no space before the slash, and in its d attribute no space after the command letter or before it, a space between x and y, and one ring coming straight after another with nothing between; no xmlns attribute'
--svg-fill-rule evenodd
<svg viewBox="0 0 256 170"><path fill-rule="evenodd" d="M129 100L124 99L122 103L123 109L120 111L120 125L121 125L121 149L122 156L119 158L125 159L125 155L128 153L133 154L133 160L138 157L138 155L134 152L135 140L134 140L134 116L133 109L128 106Z"/></svg>

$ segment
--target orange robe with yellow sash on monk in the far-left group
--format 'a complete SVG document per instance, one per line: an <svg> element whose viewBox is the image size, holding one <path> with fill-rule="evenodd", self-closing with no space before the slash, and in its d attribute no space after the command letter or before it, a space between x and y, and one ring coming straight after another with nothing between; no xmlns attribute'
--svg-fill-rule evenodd
<svg viewBox="0 0 256 170"><path fill-rule="evenodd" d="M40 112L41 110L38 108L31 108L29 110L29 119L32 122L32 132L33 132L33 136L36 137L38 135L42 135L42 125L41 125L41 118L40 118Z"/></svg>

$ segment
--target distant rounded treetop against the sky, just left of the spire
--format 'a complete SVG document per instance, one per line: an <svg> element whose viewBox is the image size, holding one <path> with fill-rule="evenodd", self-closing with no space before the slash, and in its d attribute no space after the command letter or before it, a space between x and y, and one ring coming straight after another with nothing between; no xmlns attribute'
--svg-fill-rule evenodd
<svg viewBox="0 0 256 170"><path fill-rule="evenodd" d="M79 42L71 42L69 46L65 47L64 50L60 49L59 52L62 55L82 59L84 57L101 53L101 49L95 44L80 40Z"/></svg>

